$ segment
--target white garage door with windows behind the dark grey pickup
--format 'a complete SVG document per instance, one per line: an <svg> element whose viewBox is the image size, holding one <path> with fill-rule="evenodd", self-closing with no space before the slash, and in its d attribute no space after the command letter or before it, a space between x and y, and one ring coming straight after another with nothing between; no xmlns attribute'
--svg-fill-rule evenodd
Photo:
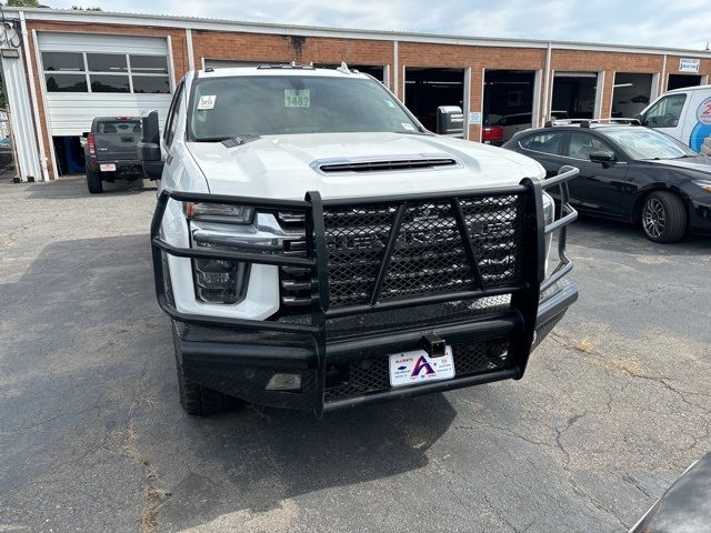
<svg viewBox="0 0 711 533"><path fill-rule="evenodd" d="M136 117L170 105L164 38L38 33L52 137L81 135L94 117Z"/></svg>

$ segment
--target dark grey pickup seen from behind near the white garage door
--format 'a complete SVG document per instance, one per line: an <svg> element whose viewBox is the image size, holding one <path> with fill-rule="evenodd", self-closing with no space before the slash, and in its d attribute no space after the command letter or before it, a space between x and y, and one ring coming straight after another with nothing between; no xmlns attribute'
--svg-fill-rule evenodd
<svg viewBox="0 0 711 533"><path fill-rule="evenodd" d="M138 155L140 117L97 117L84 133L87 185L89 192L103 191L103 182L144 178Z"/></svg>

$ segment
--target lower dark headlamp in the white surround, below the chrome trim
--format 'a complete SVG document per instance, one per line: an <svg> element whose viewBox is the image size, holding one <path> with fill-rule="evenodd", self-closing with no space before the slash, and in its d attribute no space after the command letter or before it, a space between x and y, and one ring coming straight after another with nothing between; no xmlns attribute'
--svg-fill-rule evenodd
<svg viewBox="0 0 711 533"><path fill-rule="evenodd" d="M227 259L196 259L192 262L196 293L206 303L237 303L242 295L246 264Z"/></svg>

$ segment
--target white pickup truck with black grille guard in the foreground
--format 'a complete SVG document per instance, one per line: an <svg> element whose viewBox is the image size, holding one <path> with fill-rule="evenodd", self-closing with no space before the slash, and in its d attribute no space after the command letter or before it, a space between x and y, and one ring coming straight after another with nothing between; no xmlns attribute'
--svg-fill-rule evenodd
<svg viewBox="0 0 711 533"><path fill-rule="evenodd" d="M441 123L461 130L455 114ZM139 151L160 180L156 291L190 414L241 399L321 415L520 379L578 296L575 169L543 182L532 159L431 133L346 66L190 72Z"/></svg>

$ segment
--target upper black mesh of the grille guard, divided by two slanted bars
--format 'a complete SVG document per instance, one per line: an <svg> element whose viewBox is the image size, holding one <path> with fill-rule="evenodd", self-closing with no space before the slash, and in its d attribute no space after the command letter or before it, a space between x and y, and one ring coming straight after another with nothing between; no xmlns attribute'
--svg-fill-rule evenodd
<svg viewBox="0 0 711 533"><path fill-rule="evenodd" d="M483 288L521 279L523 198L460 202ZM400 203L327 207L330 304L370 303ZM479 289L449 200L409 202L379 301Z"/></svg>

